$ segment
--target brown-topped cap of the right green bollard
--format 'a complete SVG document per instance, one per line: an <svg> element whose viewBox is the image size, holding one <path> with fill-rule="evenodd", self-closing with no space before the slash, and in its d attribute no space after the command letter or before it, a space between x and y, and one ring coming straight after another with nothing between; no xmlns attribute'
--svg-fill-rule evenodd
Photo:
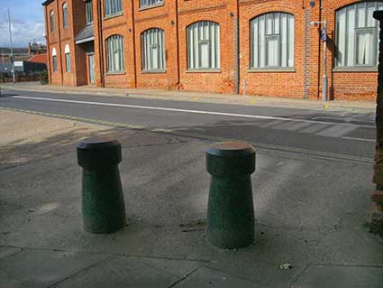
<svg viewBox="0 0 383 288"><path fill-rule="evenodd" d="M206 169L215 176L251 174L255 171L255 150L241 141L213 144L206 151Z"/></svg>

